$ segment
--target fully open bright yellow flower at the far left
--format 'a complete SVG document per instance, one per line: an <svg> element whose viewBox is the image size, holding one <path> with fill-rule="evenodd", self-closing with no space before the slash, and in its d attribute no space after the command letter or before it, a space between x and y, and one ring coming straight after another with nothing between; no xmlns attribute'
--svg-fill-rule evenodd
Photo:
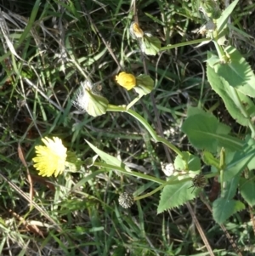
<svg viewBox="0 0 255 256"><path fill-rule="evenodd" d="M34 168L39 175L50 177L54 174L57 177L65 170L66 148L58 137L48 139L45 137L42 142L46 145L37 145L37 156L33 158Z"/></svg>

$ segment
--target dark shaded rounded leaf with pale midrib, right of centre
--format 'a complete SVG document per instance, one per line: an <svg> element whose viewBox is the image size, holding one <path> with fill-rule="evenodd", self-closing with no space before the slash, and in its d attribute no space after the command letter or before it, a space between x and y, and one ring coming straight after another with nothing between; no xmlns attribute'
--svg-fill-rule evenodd
<svg viewBox="0 0 255 256"><path fill-rule="evenodd" d="M221 130L217 118L208 113L188 117L181 130L187 134L190 143L201 150L216 152L218 147L224 147L240 151L244 145L240 139L227 135L225 129Z"/></svg>

